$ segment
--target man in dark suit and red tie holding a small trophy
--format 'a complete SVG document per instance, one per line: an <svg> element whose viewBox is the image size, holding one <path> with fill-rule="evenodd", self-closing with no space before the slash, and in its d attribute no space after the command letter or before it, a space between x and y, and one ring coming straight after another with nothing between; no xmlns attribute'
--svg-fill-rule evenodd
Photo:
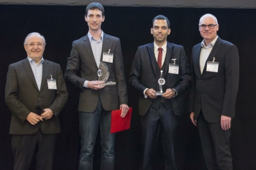
<svg viewBox="0 0 256 170"><path fill-rule="evenodd" d="M129 82L140 94L144 147L142 169L151 169L158 127L166 157L165 169L176 169L173 144L179 116L185 107L183 92L191 83L191 75L183 46L166 40L171 32L168 18L158 15L152 24L154 42L138 47L129 77ZM155 92L160 90L161 70L165 79L162 88L166 92L156 95Z"/></svg>

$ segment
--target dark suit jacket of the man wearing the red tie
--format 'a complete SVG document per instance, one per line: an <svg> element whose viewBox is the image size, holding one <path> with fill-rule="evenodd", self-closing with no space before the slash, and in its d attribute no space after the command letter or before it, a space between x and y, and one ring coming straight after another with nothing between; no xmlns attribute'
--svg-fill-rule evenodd
<svg viewBox="0 0 256 170"><path fill-rule="evenodd" d="M171 59L175 58L177 59L176 64L179 64L179 73L168 73L169 63L173 63ZM129 82L140 94L140 115L146 114L153 101L150 97L145 98L143 91L146 88L157 89L157 86L159 86L156 76L160 72L156 72L155 62L153 42L138 47L132 63ZM162 67L165 67L165 72L163 73L165 75L163 77L165 79L165 88L174 88L178 92L176 97L169 99L172 110L175 115L181 115L184 112L185 104L183 92L191 83L190 69L183 46L167 42L165 65L162 65Z"/></svg>

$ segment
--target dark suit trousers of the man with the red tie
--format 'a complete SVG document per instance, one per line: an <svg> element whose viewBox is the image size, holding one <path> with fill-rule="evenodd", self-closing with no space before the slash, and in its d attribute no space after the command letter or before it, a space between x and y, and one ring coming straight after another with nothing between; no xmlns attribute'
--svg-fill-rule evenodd
<svg viewBox="0 0 256 170"><path fill-rule="evenodd" d="M166 108L161 102L158 109L150 107L144 116L141 116L142 142L144 146L143 170L151 169L154 156L157 134L161 135L165 153L165 169L176 169L174 158L174 139L179 117L173 114L171 108Z"/></svg>

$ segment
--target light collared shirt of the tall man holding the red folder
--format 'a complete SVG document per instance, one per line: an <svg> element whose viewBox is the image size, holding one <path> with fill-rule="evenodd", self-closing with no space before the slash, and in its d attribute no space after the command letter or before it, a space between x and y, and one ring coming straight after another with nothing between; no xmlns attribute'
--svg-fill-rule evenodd
<svg viewBox="0 0 256 170"><path fill-rule="evenodd" d="M93 56L95 58L98 68L100 65L100 58L101 58L101 51L102 51L102 44L103 44L103 35L104 35L104 32L103 32L103 30L101 30L101 37L97 41L96 39L93 38L92 34L88 31L88 38L91 42ZM97 74L97 72L96 72L96 74ZM87 84L88 84L88 80L86 80L84 82L84 87L88 87Z"/></svg>

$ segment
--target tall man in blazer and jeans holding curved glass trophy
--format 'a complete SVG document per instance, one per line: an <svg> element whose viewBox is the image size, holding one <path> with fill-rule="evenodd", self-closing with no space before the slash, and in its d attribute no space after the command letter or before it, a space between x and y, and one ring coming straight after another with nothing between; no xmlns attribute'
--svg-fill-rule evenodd
<svg viewBox="0 0 256 170"><path fill-rule="evenodd" d="M81 151L79 169L93 168L93 151L100 126L101 131L101 169L114 169L115 133L110 133L111 110L122 109L124 117L129 109L127 87L124 76L120 40L101 30L104 21L104 8L93 2L86 7L85 20L89 26L86 36L75 40L68 58L65 79L80 89L79 116L81 132ZM108 81L114 84L99 86L100 61L109 69ZM77 72L80 71L80 75Z"/></svg>

